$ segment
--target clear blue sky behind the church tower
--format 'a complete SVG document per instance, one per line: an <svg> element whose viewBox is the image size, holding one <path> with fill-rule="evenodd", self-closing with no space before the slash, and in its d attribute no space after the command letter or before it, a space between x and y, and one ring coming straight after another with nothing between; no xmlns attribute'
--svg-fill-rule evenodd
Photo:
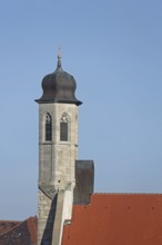
<svg viewBox="0 0 162 245"><path fill-rule="evenodd" d="M95 192L162 193L162 1L0 1L0 219L37 213L41 80L78 82Z"/></svg>

